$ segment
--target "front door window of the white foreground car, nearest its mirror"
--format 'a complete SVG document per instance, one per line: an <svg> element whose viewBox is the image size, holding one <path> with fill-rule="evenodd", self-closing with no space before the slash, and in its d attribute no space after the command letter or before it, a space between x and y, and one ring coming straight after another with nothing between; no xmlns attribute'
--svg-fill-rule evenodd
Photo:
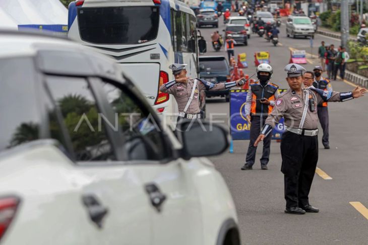
<svg viewBox="0 0 368 245"><path fill-rule="evenodd" d="M159 122L128 91L102 84L125 140L127 160L162 160L168 156Z"/></svg>

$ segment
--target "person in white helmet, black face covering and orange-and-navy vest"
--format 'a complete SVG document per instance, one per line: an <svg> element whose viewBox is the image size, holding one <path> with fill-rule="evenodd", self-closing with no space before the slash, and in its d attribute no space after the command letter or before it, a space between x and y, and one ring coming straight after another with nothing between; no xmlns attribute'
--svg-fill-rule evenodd
<svg viewBox="0 0 368 245"><path fill-rule="evenodd" d="M254 142L265 124L268 114L275 106L275 100L279 96L278 86L270 82L273 69L266 63L260 64L256 70L258 81L250 84L245 106L246 118L251 124L250 142L246 157L246 163L241 170L251 170L256 159L257 147ZM261 158L261 169L267 170L270 158L270 145L272 135L268 135L263 141L263 153Z"/></svg>

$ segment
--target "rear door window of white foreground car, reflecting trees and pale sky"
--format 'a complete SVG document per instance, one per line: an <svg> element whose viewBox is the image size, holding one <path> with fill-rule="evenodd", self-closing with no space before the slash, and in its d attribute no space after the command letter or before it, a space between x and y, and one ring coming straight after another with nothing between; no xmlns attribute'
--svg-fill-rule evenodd
<svg viewBox="0 0 368 245"><path fill-rule="evenodd" d="M47 76L46 85L62 115L77 161L115 160L105 124L95 98L84 78ZM50 117L51 137L59 138Z"/></svg>

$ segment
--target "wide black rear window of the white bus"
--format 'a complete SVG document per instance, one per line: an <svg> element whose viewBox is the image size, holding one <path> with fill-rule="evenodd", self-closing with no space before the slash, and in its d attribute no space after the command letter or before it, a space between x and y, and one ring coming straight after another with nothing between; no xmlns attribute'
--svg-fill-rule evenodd
<svg viewBox="0 0 368 245"><path fill-rule="evenodd" d="M159 25L158 7L80 8L82 40L96 44L138 44L154 40Z"/></svg>

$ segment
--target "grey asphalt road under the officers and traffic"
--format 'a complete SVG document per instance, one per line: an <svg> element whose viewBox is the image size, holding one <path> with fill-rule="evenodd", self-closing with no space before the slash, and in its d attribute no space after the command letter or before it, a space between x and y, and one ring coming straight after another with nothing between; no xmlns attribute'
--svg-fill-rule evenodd
<svg viewBox="0 0 368 245"><path fill-rule="evenodd" d="M226 55L223 50L214 52L210 42L213 31L222 32L224 29L222 18L220 20L219 28L201 28L208 41L208 53L205 55ZM281 89L286 89L288 86L283 68L290 58L289 48L305 49L310 53L310 40L287 38L284 25L280 28L279 39L282 46L274 47L272 43L252 34L248 46L235 47L235 56L246 52L249 68L244 69L244 72L253 74L256 70L254 52L269 51L274 69L271 80ZM315 54L322 40L335 46L340 44L338 39L316 35L313 50ZM319 60L313 58L308 59L308 62L304 66L308 70L319 64ZM342 80L332 81L332 86L335 91L340 92L353 89L352 85ZM318 167L331 178L325 180L316 174L310 193L310 202L320 208L320 213L284 213L280 144L276 141L271 144L267 171L260 169L261 145L253 170L240 170L245 161L248 140L234 141L234 153L211 157L232 193L242 244L368 244L367 105L368 96L329 104L331 149L323 149L320 134ZM223 114L214 116L214 119L227 121L229 104L224 99L207 99L207 119L214 113ZM227 122L224 125L228 127ZM366 217L349 202L360 202L363 205L360 210L366 212Z"/></svg>

